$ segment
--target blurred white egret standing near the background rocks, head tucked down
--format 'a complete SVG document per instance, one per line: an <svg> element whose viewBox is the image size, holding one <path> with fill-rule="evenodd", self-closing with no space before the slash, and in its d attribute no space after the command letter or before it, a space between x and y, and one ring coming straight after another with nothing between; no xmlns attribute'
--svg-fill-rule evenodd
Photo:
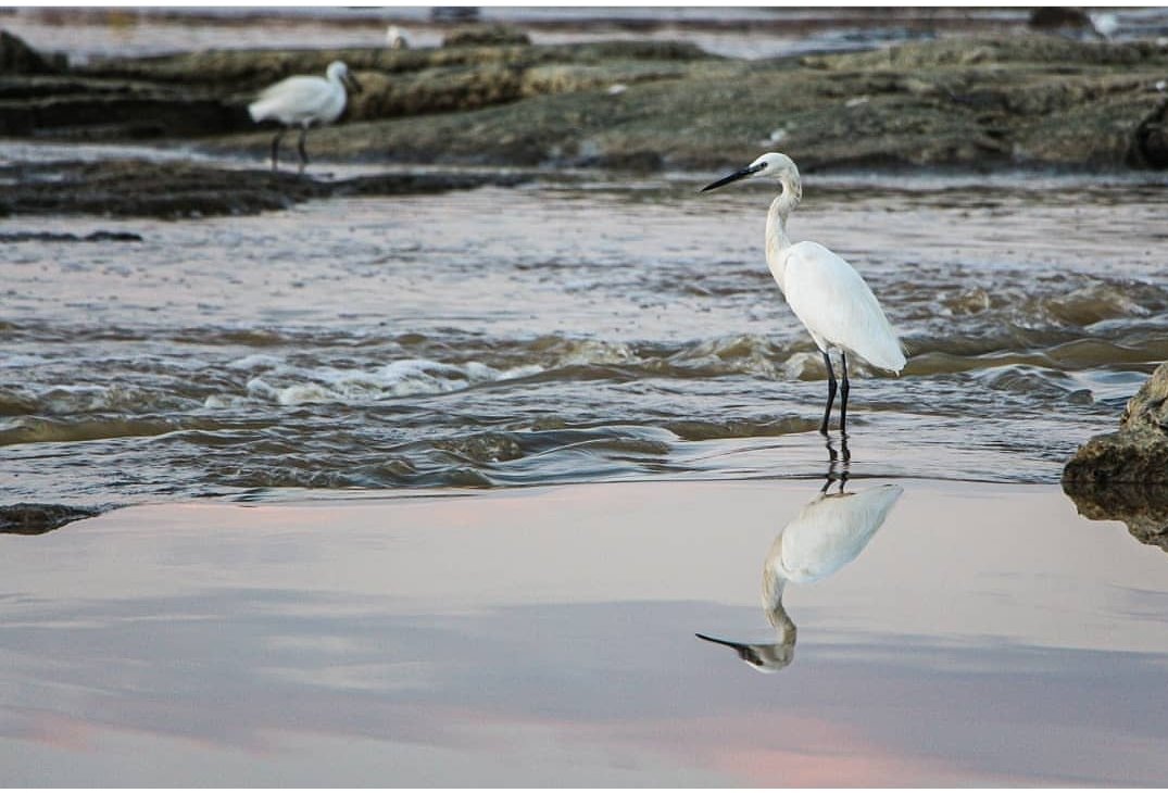
<svg viewBox="0 0 1168 793"><path fill-rule="evenodd" d="M265 88L259 97L248 105L251 120L272 119L283 127L272 138L272 171L279 159L280 138L287 127L299 126L300 139L297 153L300 155L300 172L308 165L308 155L304 151L304 140L312 125L332 124L345 111L348 96L345 88L359 92L361 84L349 74L349 68L340 61L333 61L325 70L325 77L298 75L287 77L274 85Z"/></svg>

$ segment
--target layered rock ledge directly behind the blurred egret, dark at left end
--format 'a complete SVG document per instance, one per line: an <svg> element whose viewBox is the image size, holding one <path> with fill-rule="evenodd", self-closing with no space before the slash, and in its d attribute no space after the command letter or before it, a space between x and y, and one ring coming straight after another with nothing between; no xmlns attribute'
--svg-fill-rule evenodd
<svg viewBox="0 0 1168 793"><path fill-rule="evenodd" d="M96 60L62 75L0 78L0 134L147 140L256 130L246 105L296 74L341 60L366 90L347 120L474 110L548 92L682 76L711 56L670 42L556 47L461 46L412 50L209 50Z"/></svg>

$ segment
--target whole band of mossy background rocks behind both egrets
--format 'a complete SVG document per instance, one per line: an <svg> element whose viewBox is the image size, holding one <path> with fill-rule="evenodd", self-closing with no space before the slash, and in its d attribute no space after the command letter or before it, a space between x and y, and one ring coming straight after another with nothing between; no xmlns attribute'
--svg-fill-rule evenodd
<svg viewBox="0 0 1168 793"><path fill-rule="evenodd" d="M762 148L806 169L1168 167L1168 46L1028 34L741 61L619 41L223 50L67 67L4 40L0 134L185 139L262 162L245 106L346 61L366 90L318 156L363 162L715 168ZM514 41L502 39L502 41Z"/></svg>

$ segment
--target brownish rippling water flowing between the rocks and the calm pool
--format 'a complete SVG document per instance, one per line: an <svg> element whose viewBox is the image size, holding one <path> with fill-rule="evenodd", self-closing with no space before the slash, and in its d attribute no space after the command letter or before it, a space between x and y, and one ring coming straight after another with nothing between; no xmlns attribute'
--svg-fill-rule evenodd
<svg viewBox="0 0 1168 793"><path fill-rule="evenodd" d="M19 499L820 475L826 385L707 176L334 200L141 242L5 245L0 445ZM1055 481L1168 357L1163 186L805 178L795 239L903 333L860 371L853 475Z"/></svg>

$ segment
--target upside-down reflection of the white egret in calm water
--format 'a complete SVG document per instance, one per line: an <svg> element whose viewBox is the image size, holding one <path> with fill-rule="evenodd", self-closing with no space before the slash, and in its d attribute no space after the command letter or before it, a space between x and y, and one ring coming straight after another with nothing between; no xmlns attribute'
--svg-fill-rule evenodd
<svg viewBox="0 0 1168 793"><path fill-rule="evenodd" d="M830 482L828 482L830 484ZM779 531L763 563L763 611L778 641L745 644L695 634L698 639L730 647L764 673L778 672L794 660L795 624L783 607L788 582L807 584L835 573L868 547L872 536L904 489L898 485L872 487L858 493L820 495Z"/></svg>

